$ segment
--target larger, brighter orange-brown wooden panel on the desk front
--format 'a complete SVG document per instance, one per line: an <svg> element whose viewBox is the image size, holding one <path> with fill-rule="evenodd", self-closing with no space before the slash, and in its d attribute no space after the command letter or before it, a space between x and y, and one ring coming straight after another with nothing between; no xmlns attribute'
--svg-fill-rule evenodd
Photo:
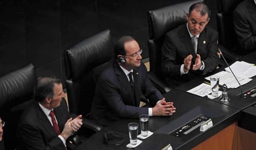
<svg viewBox="0 0 256 150"><path fill-rule="evenodd" d="M237 125L233 123L227 126L224 130L219 131L211 138L206 139L203 143L198 144L193 148L193 150L235 150L237 149Z"/></svg>

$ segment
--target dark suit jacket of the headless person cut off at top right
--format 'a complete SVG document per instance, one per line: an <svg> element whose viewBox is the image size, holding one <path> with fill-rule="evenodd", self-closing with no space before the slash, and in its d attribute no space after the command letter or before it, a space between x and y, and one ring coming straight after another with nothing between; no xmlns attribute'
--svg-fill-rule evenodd
<svg viewBox="0 0 256 150"><path fill-rule="evenodd" d="M240 45L238 53L256 51L256 4L253 0L241 2L234 10L234 29Z"/></svg>

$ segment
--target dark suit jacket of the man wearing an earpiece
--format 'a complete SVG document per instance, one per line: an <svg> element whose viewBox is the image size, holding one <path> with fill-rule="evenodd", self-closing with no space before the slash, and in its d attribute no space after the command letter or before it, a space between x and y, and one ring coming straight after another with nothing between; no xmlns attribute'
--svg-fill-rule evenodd
<svg viewBox="0 0 256 150"><path fill-rule="evenodd" d="M147 77L144 63L135 68L133 74L135 94L119 64L111 62L103 71L98 79L91 107L94 120L108 125L118 118L139 118L139 115L149 113L149 108L139 107L141 94L149 99L152 106L163 98Z"/></svg>

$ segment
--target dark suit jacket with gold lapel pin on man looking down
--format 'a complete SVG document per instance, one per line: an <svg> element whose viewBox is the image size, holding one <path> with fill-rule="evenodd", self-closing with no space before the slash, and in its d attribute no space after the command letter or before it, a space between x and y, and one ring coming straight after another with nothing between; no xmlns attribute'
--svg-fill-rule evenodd
<svg viewBox="0 0 256 150"><path fill-rule="evenodd" d="M162 47L162 71L167 83L170 86L178 86L216 69L218 65L217 37L218 33L209 27L205 27L200 33L197 53L204 62L204 70L193 71L196 53L186 24L167 32ZM188 55L193 56L190 71L181 76L180 67Z"/></svg>

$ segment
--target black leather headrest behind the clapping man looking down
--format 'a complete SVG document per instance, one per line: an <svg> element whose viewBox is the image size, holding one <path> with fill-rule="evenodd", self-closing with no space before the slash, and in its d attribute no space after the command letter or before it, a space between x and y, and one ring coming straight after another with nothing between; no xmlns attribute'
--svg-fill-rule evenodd
<svg viewBox="0 0 256 150"><path fill-rule="evenodd" d="M149 38L158 39L167 31L175 29L186 22L188 9L199 0L181 2L148 12Z"/></svg>

